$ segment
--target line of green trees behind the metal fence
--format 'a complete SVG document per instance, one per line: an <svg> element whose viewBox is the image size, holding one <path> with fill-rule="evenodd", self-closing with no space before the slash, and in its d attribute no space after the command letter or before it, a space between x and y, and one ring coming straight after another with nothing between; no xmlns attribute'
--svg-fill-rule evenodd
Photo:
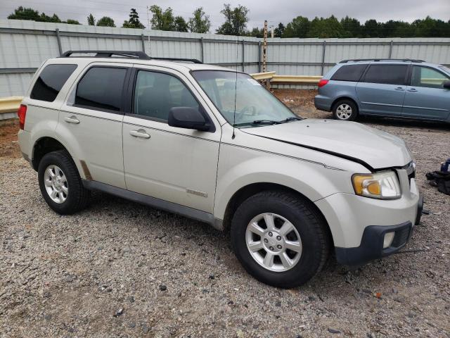
<svg viewBox="0 0 450 338"><path fill-rule="evenodd" d="M203 7L196 8L192 16L187 20L181 15L174 15L172 8L161 8L153 5L149 8L152 15L150 28L153 30L169 30L176 32L210 32L210 16L203 11ZM224 4L220 12L224 15L224 23L216 30L221 35L240 35L249 37L263 37L263 28L253 28L248 30L250 10L245 6L231 7L230 4ZM49 23L70 23L80 25L77 20L60 20L58 15L52 16L33 8L24 8L20 6L14 10L14 13L8 16L8 19L34 20ZM87 17L88 25L116 27L113 18L103 16L98 20L91 13ZM139 14L136 8L131 8L129 19L124 20L122 28L146 28L139 20ZM288 24L279 23L274 28L274 37L450 37L450 20L433 19L428 16L425 19L418 19L412 23L400 20L389 20L380 23L377 20L367 20L360 23L356 18L338 19L334 15L329 18L314 18L309 20L304 16L293 18Z"/></svg>

